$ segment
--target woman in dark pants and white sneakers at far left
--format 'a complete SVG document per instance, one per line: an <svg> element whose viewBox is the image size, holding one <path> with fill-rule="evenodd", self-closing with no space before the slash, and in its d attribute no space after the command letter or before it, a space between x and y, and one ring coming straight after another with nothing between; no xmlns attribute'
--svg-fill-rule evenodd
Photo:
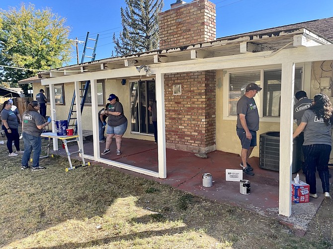
<svg viewBox="0 0 333 249"><path fill-rule="evenodd" d="M3 102L2 110L1 110L1 121L2 121L2 129L7 137L7 148L9 151L8 156L17 156L18 154L24 153L24 151L20 150L20 135L18 134L18 122L16 113L11 111L12 101L6 100ZM13 152L13 144L16 148L16 153Z"/></svg>

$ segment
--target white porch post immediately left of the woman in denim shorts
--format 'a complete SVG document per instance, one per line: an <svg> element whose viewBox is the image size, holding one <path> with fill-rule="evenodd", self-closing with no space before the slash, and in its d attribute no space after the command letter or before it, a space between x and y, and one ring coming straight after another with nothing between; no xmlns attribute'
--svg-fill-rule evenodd
<svg viewBox="0 0 333 249"><path fill-rule="evenodd" d="M98 126L98 102L97 102L97 80L90 79L91 89L91 121L92 121L92 137L93 137L93 158L99 158L99 126Z"/></svg>

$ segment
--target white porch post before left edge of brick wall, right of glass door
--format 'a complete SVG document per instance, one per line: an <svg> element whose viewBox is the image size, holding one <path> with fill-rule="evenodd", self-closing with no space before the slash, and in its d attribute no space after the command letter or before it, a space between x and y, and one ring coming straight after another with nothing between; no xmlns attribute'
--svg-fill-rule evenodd
<svg viewBox="0 0 333 249"><path fill-rule="evenodd" d="M156 72L156 108L159 178L167 178L166 115L164 108L164 73Z"/></svg>

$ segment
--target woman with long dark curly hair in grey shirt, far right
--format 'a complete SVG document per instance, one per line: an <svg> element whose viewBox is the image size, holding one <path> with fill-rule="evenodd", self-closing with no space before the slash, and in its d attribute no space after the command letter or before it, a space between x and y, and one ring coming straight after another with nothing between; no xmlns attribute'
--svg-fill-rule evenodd
<svg viewBox="0 0 333 249"><path fill-rule="evenodd" d="M322 181L325 198L332 199L329 183L329 160L331 153L331 131L333 108L329 97L320 93L313 98L312 106L305 111L302 122L293 138L304 130L303 152L306 183L310 185L310 196L318 198L316 189L316 169Z"/></svg>

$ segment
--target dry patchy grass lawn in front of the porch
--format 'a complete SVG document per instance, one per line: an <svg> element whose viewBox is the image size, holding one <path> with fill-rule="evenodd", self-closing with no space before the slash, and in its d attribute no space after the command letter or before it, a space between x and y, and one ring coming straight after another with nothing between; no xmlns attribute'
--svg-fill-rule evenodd
<svg viewBox="0 0 333 249"><path fill-rule="evenodd" d="M0 145L1 248L333 247L332 202L300 238L275 219L100 165L65 172L56 156L40 161L44 171L21 171L21 156L7 154Z"/></svg>

